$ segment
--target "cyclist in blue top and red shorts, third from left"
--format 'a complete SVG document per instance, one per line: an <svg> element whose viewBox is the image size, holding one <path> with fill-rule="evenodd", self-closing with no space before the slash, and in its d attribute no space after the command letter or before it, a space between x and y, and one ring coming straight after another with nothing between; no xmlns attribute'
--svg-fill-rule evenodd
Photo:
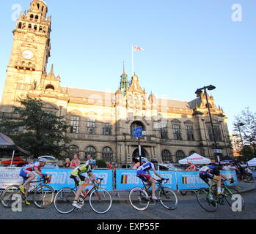
<svg viewBox="0 0 256 234"><path fill-rule="evenodd" d="M140 166L137 169L137 176L139 176L140 178L142 178L143 181L147 182L147 189L150 189L150 187L152 186L152 200L158 200L158 198L156 197L156 178L153 178L152 176L150 176L149 171L152 169L154 174L156 176L158 176L161 179L161 176L158 175L158 173L156 172L156 165L158 165L158 162L156 159L152 159L150 162L147 162L145 165Z"/></svg>

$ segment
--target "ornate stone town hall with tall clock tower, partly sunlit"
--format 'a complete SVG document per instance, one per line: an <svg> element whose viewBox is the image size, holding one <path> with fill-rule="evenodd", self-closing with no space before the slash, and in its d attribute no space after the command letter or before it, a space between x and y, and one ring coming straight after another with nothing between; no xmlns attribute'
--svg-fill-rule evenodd
<svg viewBox="0 0 256 234"><path fill-rule="evenodd" d="M132 162L139 150L131 131L140 126L146 132L141 139L142 156L148 159L177 162L194 152L214 155L204 93L191 102L159 99L142 90L137 75L128 82L125 69L116 93L62 87L53 66L47 74L51 56L51 18L47 10L45 1L32 1L12 31L14 41L0 118L10 116L13 107L19 105L18 97L29 95L43 100L45 110L65 116L70 123L70 147L82 159L92 154L106 162ZM227 117L222 108L216 107L213 97L208 98L217 143L223 155L230 154Z"/></svg>

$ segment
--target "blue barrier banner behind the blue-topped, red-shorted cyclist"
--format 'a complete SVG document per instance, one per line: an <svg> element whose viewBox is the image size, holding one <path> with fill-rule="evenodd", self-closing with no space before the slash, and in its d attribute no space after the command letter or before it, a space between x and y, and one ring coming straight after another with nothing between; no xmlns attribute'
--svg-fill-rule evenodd
<svg viewBox="0 0 256 234"><path fill-rule="evenodd" d="M120 191L129 191L134 189L134 187L143 187L142 180L136 177L136 173L136 170L117 170L116 189ZM169 178L168 184L164 184L164 186L167 186L173 190L177 190L175 172L158 171L158 174L163 178ZM153 171L150 172L150 175L158 179L154 175Z"/></svg>

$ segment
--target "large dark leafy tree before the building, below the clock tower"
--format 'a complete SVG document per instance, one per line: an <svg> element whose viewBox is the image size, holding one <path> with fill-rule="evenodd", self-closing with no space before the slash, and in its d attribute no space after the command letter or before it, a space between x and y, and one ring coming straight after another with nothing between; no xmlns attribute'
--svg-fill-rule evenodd
<svg viewBox="0 0 256 234"><path fill-rule="evenodd" d="M69 127L63 117L55 116L43 110L40 99L27 97L20 99L21 107L15 107L18 114L16 120L4 119L1 131L10 136L18 146L30 151L36 158L42 155L52 155L61 159L68 155L70 143L66 132ZM18 129L23 127L23 132Z"/></svg>

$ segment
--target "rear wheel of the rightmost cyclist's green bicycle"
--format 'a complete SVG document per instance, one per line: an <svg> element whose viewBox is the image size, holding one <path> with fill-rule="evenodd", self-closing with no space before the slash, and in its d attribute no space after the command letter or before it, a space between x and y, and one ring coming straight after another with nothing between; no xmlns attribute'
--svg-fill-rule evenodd
<svg viewBox="0 0 256 234"><path fill-rule="evenodd" d="M197 192L197 201L205 211L215 212L218 208L216 196L213 192L210 195L209 189L200 189Z"/></svg>

